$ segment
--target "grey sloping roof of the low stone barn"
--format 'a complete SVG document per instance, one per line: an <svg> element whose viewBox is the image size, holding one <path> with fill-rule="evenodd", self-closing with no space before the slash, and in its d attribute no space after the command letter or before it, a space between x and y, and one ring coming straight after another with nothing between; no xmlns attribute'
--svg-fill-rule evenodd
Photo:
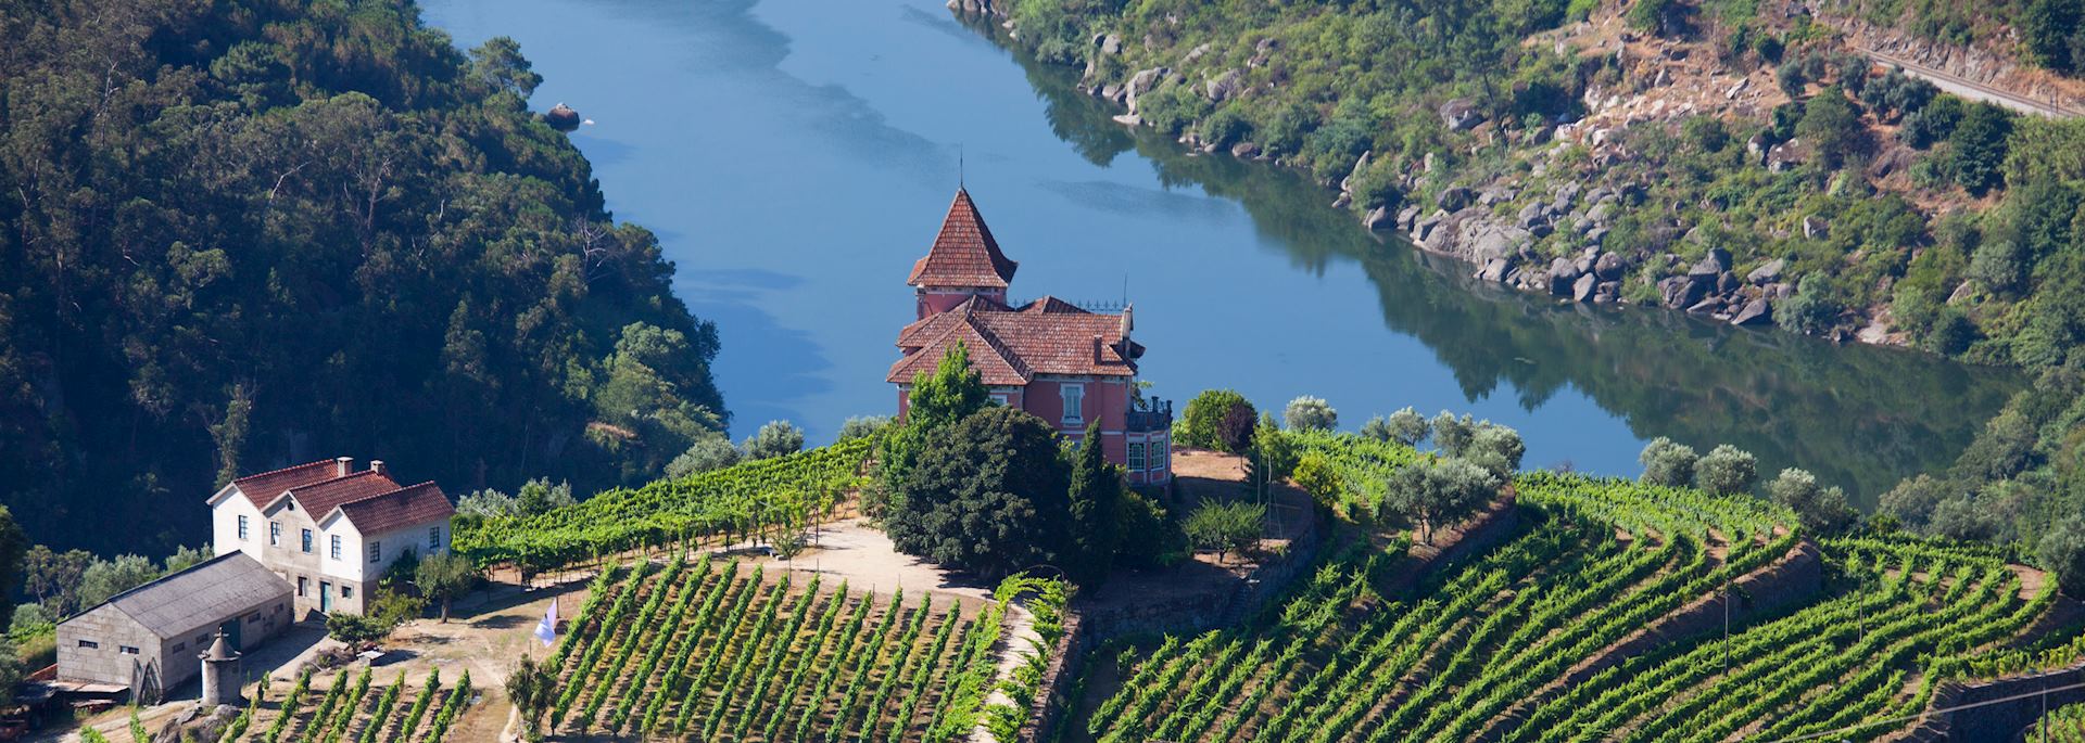
<svg viewBox="0 0 2085 743"><path fill-rule="evenodd" d="M244 552L234 552L117 593L104 606L123 612L152 635L171 639L288 595L290 583L275 570Z"/></svg>

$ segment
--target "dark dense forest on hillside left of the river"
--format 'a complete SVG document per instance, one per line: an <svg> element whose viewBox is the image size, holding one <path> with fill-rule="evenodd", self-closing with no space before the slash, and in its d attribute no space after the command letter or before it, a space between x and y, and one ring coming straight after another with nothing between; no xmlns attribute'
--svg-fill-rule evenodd
<svg viewBox="0 0 2085 743"><path fill-rule="evenodd" d="M332 456L584 491L721 431L717 329L536 83L404 0L8 2L0 502L31 539L165 554L227 479Z"/></svg>

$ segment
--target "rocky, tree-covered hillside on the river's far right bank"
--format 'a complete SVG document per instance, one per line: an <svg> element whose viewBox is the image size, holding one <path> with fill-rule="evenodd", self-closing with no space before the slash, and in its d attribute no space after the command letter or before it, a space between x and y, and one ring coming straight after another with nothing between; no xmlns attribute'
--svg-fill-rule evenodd
<svg viewBox="0 0 2085 743"><path fill-rule="evenodd" d="M1612 229L1593 235L1583 219L1576 229L1560 219L1528 235L1518 260L1541 271L1612 254L1620 300L1666 306L1666 281L1724 262L1735 277L1779 277L1768 281L1785 289L1772 296L1783 329L2022 368L2035 383L1960 462L1856 499L1881 502L1895 524L1989 539L2029 560L2058 520L2085 512L2085 121L2014 114L1874 69L1837 21L1793 2L1013 0L988 10L1022 54L1126 102L1122 121L1299 169L1355 216L1580 216L1587 206L1549 200L1599 187L1618 196L1601 208L1616 214ZM1937 42L2010 44L2060 75L2075 73L2072 44L2085 52L2072 0L2000 2L1977 19L1945 2L1824 12ZM1583 42L1603 46L1572 46ZM1701 85L1664 75L1683 67L1770 83L1751 85L1756 110L1599 119L1612 127L1601 137L1560 139L1603 114L1595 98ZM1737 98L1716 89L1718 102ZM1451 204L1472 189L1497 200Z"/></svg>

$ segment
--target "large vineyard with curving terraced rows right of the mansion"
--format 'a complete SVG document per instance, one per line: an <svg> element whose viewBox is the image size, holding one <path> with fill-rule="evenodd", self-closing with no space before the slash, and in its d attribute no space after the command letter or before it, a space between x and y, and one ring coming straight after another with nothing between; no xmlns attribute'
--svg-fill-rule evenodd
<svg viewBox="0 0 2085 743"><path fill-rule="evenodd" d="M1355 481L1399 464L1366 452L1339 460ZM1981 552L1835 539L1820 545L1824 591L1741 622L1728 645L1718 624L1610 658L1791 556L1793 514L1553 472L1524 475L1516 491L1520 531L1441 568L1414 597L1374 589L1401 549L1351 547L1245 629L1105 654L1068 739L1781 739L1916 714L1933 693L1929 664L2010 639L2052 599L2022 597L2020 579Z"/></svg>

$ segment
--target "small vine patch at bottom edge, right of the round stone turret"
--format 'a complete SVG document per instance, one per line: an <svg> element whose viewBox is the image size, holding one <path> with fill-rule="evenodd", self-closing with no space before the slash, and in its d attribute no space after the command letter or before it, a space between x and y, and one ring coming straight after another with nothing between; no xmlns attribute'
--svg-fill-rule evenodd
<svg viewBox="0 0 2085 743"><path fill-rule="evenodd" d="M273 689L269 703L250 708L231 722L223 741L254 743L442 743L471 703L471 674L463 672L448 687L440 672L430 672L415 685L398 676L392 683L371 683L369 668L332 672L332 683L319 691L315 674L304 672L288 691Z"/></svg>

